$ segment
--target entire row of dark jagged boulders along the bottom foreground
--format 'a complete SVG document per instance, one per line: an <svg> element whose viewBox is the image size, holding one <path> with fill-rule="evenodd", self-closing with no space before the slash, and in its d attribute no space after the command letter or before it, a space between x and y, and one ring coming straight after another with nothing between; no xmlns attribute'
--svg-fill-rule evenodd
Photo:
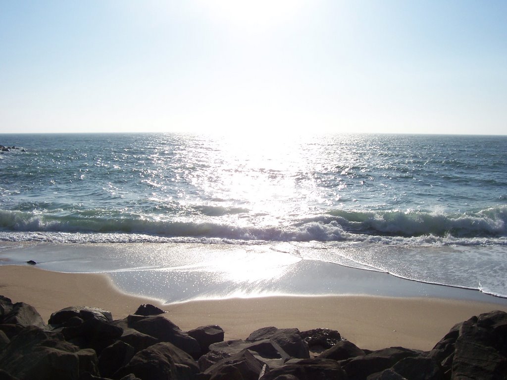
<svg viewBox="0 0 507 380"><path fill-rule="evenodd" d="M361 350L337 331L265 327L224 341L219 326L182 331L152 305L113 320L69 307L46 324L23 302L0 296L0 380L227 379L440 380L507 378L507 313L451 328L428 352Z"/></svg>

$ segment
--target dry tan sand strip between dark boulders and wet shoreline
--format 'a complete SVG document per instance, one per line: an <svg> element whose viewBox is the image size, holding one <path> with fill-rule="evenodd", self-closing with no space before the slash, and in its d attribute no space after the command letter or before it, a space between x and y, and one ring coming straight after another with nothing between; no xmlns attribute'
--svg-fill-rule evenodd
<svg viewBox="0 0 507 380"><path fill-rule="evenodd" d="M367 295L273 296L161 305L121 292L103 274L58 273L17 265L0 267L0 294L32 305L45 320L68 306L104 308L118 319L142 303L152 303L166 310L166 317L183 330L218 324L230 339L245 338L265 326L326 327L365 349L403 346L429 350L455 323L491 310L507 311L500 302Z"/></svg>

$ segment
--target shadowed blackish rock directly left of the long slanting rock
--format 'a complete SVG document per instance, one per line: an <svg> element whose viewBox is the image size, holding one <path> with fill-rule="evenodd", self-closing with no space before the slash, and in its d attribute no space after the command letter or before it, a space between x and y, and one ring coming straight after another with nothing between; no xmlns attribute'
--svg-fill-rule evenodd
<svg viewBox="0 0 507 380"><path fill-rule="evenodd" d="M80 348L91 348L100 354L123 334L123 329L99 319L88 319L75 327L62 330L65 339Z"/></svg>

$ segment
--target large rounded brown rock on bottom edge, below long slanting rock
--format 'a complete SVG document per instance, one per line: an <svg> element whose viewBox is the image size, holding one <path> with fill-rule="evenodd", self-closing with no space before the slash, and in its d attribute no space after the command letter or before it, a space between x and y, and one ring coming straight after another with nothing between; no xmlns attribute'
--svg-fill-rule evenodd
<svg viewBox="0 0 507 380"><path fill-rule="evenodd" d="M190 355L171 343L163 342L139 351L114 377L130 373L141 380L187 379L199 373L199 367Z"/></svg>

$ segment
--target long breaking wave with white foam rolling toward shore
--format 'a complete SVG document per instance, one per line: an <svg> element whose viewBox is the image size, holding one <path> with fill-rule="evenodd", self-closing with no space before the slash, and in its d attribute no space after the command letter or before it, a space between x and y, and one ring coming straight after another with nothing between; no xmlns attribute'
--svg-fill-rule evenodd
<svg viewBox="0 0 507 380"><path fill-rule="evenodd" d="M507 245L507 206L463 214L331 210L287 225L235 225L227 219L161 219L160 216L104 210L84 212L0 210L0 240L12 233L126 234L160 238L230 241L363 241L412 245ZM221 215L243 209L206 209ZM9 234L10 233L10 234ZM7 237L8 236L8 237ZM111 238L108 237L107 241ZM124 239L122 238L122 241Z"/></svg>

